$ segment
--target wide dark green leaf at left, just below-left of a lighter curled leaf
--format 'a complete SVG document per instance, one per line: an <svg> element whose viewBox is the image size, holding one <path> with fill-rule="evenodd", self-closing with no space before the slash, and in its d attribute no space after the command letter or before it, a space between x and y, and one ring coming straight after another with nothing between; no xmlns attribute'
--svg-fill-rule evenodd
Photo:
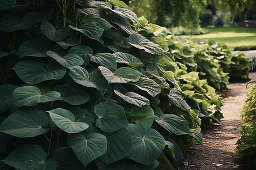
<svg viewBox="0 0 256 170"><path fill-rule="evenodd" d="M45 80L59 80L66 73L65 67L56 62L44 63L39 59L26 59L13 68L23 82L36 84Z"/></svg>

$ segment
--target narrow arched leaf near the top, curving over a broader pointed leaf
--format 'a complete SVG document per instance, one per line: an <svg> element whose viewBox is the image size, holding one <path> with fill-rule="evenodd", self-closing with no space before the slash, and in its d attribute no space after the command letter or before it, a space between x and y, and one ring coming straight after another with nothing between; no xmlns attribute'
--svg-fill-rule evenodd
<svg viewBox="0 0 256 170"><path fill-rule="evenodd" d="M97 23L97 24L100 24L103 29L109 29L109 28L113 27L105 19L101 18L100 16L96 16L96 15L85 15L84 18L82 18L82 22L85 24Z"/></svg>

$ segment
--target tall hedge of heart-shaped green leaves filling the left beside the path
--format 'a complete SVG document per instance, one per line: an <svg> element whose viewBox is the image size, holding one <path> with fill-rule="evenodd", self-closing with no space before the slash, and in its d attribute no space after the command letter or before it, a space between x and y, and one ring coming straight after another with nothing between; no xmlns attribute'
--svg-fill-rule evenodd
<svg viewBox="0 0 256 170"><path fill-rule="evenodd" d="M181 168L222 118L209 84L225 87L232 58L208 52L224 48L178 40L118 0L0 10L0 169Z"/></svg>

